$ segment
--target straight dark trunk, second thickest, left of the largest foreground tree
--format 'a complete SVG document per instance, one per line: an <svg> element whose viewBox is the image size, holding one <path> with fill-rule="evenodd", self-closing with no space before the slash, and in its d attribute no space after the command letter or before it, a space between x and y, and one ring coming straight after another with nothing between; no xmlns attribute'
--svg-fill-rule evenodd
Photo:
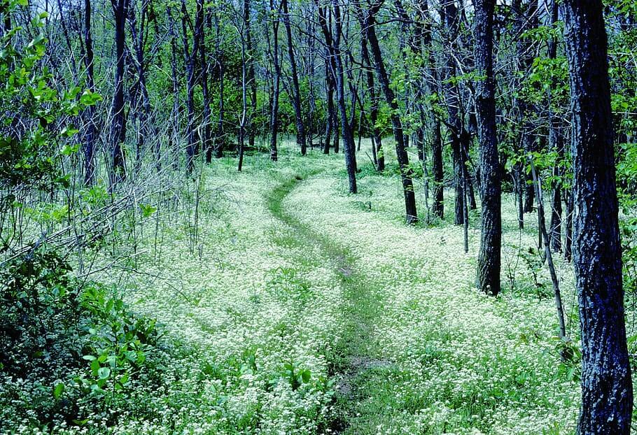
<svg viewBox="0 0 637 435"><path fill-rule="evenodd" d="M475 85L479 142L482 226L478 253L477 287L500 292L501 172L496 138L496 98L493 78L493 10L495 0L475 0L475 67L484 77Z"/></svg>

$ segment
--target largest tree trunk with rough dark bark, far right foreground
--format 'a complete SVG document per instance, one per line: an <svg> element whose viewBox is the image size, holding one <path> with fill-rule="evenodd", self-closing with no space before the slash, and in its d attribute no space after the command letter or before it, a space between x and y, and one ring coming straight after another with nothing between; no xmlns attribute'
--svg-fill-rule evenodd
<svg viewBox="0 0 637 435"><path fill-rule="evenodd" d="M573 262L582 336L580 434L629 434L633 389L622 289L607 39L601 0L566 0L573 111Z"/></svg>

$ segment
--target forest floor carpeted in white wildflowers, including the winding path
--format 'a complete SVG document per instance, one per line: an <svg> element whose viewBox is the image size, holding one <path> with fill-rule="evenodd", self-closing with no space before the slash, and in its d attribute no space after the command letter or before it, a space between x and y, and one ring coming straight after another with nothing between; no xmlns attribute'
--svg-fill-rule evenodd
<svg viewBox="0 0 637 435"><path fill-rule="evenodd" d="M473 285L476 212L465 254L451 192L443 221L406 226L397 168L363 157L356 195L342 155L320 150L203 170L197 217L165 222L144 275L118 277L189 356L144 398L153 418L115 432L573 432L577 363L559 362L550 280L528 254L535 215L518 231L505 197L504 290L487 297ZM573 335L573 277L557 266Z"/></svg>

